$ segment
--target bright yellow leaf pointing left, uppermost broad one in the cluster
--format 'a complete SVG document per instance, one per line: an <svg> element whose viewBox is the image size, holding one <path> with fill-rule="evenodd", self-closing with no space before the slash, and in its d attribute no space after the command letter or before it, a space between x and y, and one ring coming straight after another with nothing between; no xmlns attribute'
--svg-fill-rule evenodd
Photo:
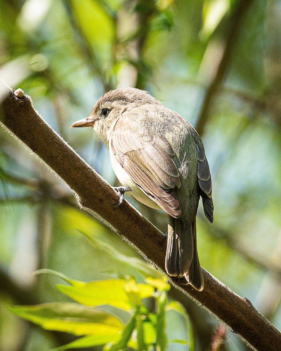
<svg viewBox="0 0 281 351"><path fill-rule="evenodd" d="M83 305L110 305L130 311L132 305L124 289L126 283L122 279L96 280L79 285L57 285L57 289Z"/></svg>

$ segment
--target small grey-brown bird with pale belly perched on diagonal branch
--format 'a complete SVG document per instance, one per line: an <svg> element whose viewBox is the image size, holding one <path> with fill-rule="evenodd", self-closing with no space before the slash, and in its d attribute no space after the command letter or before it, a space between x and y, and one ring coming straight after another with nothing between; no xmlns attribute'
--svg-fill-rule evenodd
<svg viewBox="0 0 281 351"><path fill-rule="evenodd" d="M92 127L109 149L116 177L142 204L169 215L165 270L202 291L196 214L200 197L213 223L212 181L204 146L195 128L148 92L106 92L89 117L70 127ZM122 199L119 201L122 203Z"/></svg>

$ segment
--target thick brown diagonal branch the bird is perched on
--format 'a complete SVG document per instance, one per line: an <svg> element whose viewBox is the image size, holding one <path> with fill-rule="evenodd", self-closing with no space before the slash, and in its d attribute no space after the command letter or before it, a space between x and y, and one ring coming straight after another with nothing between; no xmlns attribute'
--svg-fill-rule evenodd
<svg viewBox="0 0 281 351"><path fill-rule="evenodd" d="M79 203L103 217L165 271L165 236L128 202L113 208L119 197L83 159L37 114L31 99L21 91L10 93L2 104L1 122L50 166L77 193ZM246 298L241 298L203 269L202 292L170 279L258 351L280 350L281 333Z"/></svg>

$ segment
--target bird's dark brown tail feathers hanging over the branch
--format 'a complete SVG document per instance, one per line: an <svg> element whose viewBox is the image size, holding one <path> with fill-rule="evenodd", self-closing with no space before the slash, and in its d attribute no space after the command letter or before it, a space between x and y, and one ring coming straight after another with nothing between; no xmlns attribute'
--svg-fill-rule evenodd
<svg viewBox="0 0 281 351"><path fill-rule="evenodd" d="M169 276L185 277L196 290L202 291L204 280L197 253L196 219L185 224L169 216L165 268Z"/></svg>

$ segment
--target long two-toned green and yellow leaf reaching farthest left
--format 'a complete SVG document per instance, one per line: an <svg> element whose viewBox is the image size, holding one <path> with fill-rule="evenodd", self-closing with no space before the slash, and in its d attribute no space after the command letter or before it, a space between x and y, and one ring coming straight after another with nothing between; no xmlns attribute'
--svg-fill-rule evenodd
<svg viewBox="0 0 281 351"><path fill-rule="evenodd" d="M44 329L74 335L118 335L123 324L111 314L75 303L46 303L36 306L10 306L17 316L30 320Z"/></svg>

